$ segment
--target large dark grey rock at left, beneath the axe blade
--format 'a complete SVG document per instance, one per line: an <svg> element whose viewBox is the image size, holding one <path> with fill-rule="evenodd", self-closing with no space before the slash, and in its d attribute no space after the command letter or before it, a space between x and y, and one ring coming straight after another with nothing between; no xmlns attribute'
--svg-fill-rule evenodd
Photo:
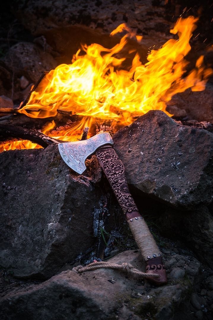
<svg viewBox="0 0 213 320"><path fill-rule="evenodd" d="M99 165L91 161L93 176L79 176L56 145L0 154L2 269L47 278L94 244L92 212L100 208L101 188Z"/></svg>

